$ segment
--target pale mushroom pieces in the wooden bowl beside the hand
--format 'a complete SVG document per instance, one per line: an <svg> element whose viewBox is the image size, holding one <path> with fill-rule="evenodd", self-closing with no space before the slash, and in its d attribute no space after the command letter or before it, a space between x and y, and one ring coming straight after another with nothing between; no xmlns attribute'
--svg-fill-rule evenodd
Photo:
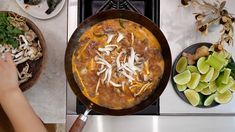
<svg viewBox="0 0 235 132"><path fill-rule="evenodd" d="M13 48L10 45L0 44L0 55L2 55L2 53L11 52L13 61L16 65L25 63L28 60L37 60L42 57L42 48L40 46L40 42L32 42L37 37L36 34L32 30L29 30L25 32L25 35L19 35L18 48ZM29 64L26 63L22 72L18 71L19 84L28 81L31 77L32 73L29 73Z"/></svg>

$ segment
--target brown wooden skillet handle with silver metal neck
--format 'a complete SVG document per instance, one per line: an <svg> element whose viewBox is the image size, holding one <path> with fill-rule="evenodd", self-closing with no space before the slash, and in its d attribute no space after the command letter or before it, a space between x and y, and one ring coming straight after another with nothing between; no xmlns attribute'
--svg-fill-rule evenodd
<svg viewBox="0 0 235 132"><path fill-rule="evenodd" d="M86 109L84 114L80 114L73 123L69 132L82 132L84 126L86 125L87 115L89 114L90 111L91 111L90 109Z"/></svg>

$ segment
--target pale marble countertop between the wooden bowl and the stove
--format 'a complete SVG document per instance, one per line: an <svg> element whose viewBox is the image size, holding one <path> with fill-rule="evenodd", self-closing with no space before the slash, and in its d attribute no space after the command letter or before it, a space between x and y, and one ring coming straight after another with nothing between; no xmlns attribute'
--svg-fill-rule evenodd
<svg viewBox="0 0 235 132"><path fill-rule="evenodd" d="M67 44L67 5L54 18L43 21L26 14L15 0L0 0L0 10L10 10L32 20L47 44L48 60L38 82L24 95L44 123L65 123L66 77L64 53Z"/></svg>

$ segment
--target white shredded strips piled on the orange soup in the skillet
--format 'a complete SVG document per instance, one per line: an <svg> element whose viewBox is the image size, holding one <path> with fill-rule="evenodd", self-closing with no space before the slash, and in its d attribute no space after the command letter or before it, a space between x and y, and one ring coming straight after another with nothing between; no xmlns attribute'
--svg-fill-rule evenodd
<svg viewBox="0 0 235 132"><path fill-rule="evenodd" d="M125 85L129 85L136 79L138 78L137 73L141 72L143 68L145 68L146 75L144 76L144 80L142 81L148 81L149 80L149 66L148 66L148 61L145 61L143 57L141 57L140 54L137 54L134 50L133 47L129 47L129 51L126 51L126 49L123 49L121 52L118 52L116 48L118 49L118 45L116 44L109 44L113 37L114 34L107 34L108 35L108 40L107 40L107 45L101 48L98 48L96 50L96 56L95 56L95 62L98 64L99 68L98 71L96 72L97 76L99 76L99 80L97 82L96 86L96 94L98 93L98 88L100 85L100 82L102 84L109 85L111 84L115 88L121 88L122 91L125 90ZM122 33L118 32L118 37L117 37L117 43L120 42L122 39L124 39L124 36ZM134 43L134 34L131 33L131 43L133 45ZM114 52L115 51L115 52ZM114 52L114 53L112 53ZM112 54L111 54L112 53ZM113 54L116 54L113 56ZM112 55L112 56L110 56ZM106 60L105 56L110 56L113 60L110 62L110 60ZM115 76L122 76L126 81L122 81L121 83L114 82L113 80L113 72L115 72ZM101 79L102 78L102 79ZM134 96L138 96L141 93L143 93L152 83L147 82L147 83L141 83L141 84L136 84L132 85L129 87L129 89L132 89L133 87L139 88L137 93L133 93Z"/></svg>

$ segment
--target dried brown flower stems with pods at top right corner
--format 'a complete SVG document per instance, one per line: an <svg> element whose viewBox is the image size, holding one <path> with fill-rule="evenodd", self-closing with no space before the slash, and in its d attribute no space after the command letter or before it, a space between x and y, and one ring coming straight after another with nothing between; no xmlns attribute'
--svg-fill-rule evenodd
<svg viewBox="0 0 235 132"><path fill-rule="evenodd" d="M181 0L183 6L192 6L199 12L194 13L196 19L196 28L204 35L208 34L208 28L211 24L220 24L223 29L220 31L221 37L216 42L222 50L224 44L233 44L235 18L233 14L225 9L226 1L215 0L207 2L205 0Z"/></svg>

